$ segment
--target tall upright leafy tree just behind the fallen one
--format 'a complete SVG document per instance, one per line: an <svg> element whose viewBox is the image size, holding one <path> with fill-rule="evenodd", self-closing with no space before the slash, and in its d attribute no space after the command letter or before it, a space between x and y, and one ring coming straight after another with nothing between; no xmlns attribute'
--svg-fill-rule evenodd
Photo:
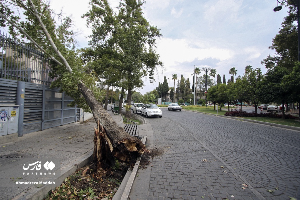
<svg viewBox="0 0 300 200"><path fill-rule="evenodd" d="M155 50L155 39L161 33L143 16L144 3L143 0L121 1L119 13L112 14L107 0L93 0L91 9L84 14L92 27L94 42L104 40L119 53L128 102L131 102L132 91L143 86L142 78L148 75L153 82L156 67L162 66Z"/></svg>

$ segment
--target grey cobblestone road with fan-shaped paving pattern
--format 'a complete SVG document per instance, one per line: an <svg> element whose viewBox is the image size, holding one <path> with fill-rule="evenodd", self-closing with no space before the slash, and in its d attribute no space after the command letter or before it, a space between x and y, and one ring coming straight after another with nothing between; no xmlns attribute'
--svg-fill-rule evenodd
<svg viewBox="0 0 300 200"><path fill-rule="evenodd" d="M149 200L300 199L299 131L162 111L149 118L164 151L152 161Z"/></svg>

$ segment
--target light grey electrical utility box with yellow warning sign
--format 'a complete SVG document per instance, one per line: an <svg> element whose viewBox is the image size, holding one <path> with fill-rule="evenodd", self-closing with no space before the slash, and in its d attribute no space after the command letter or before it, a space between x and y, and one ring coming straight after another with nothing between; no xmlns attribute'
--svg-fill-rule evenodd
<svg viewBox="0 0 300 200"><path fill-rule="evenodd" d="M0 136L17 133L19 122L19 106L0 104Z"/></svg>

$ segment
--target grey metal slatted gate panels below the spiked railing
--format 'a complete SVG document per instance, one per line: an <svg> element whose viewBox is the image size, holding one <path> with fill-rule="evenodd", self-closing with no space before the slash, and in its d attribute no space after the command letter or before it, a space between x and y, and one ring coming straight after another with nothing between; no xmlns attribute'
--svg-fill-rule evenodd
<svg viewBox="0 0 300 200"><path fill-rule="evenodd" d="M22 134L79 121L79 108L68 107L73 99L58 89L28 82L25 82L24 88L18 88L19 85L15 80L0 79L0 103L16 104L16 91L25 91L24 112L20 116L23 121Z"/></svg>

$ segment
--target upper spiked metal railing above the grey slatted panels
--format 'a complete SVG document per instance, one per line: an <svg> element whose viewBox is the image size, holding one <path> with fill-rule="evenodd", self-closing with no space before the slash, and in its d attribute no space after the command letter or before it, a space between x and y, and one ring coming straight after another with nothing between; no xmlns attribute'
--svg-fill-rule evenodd
<svg viewBox="0 0 300 200"><path fill-rule="evenodd" d="M0 31L0 78L50 85L55 81L50 72L50 60L42 52Z"/></svg>

